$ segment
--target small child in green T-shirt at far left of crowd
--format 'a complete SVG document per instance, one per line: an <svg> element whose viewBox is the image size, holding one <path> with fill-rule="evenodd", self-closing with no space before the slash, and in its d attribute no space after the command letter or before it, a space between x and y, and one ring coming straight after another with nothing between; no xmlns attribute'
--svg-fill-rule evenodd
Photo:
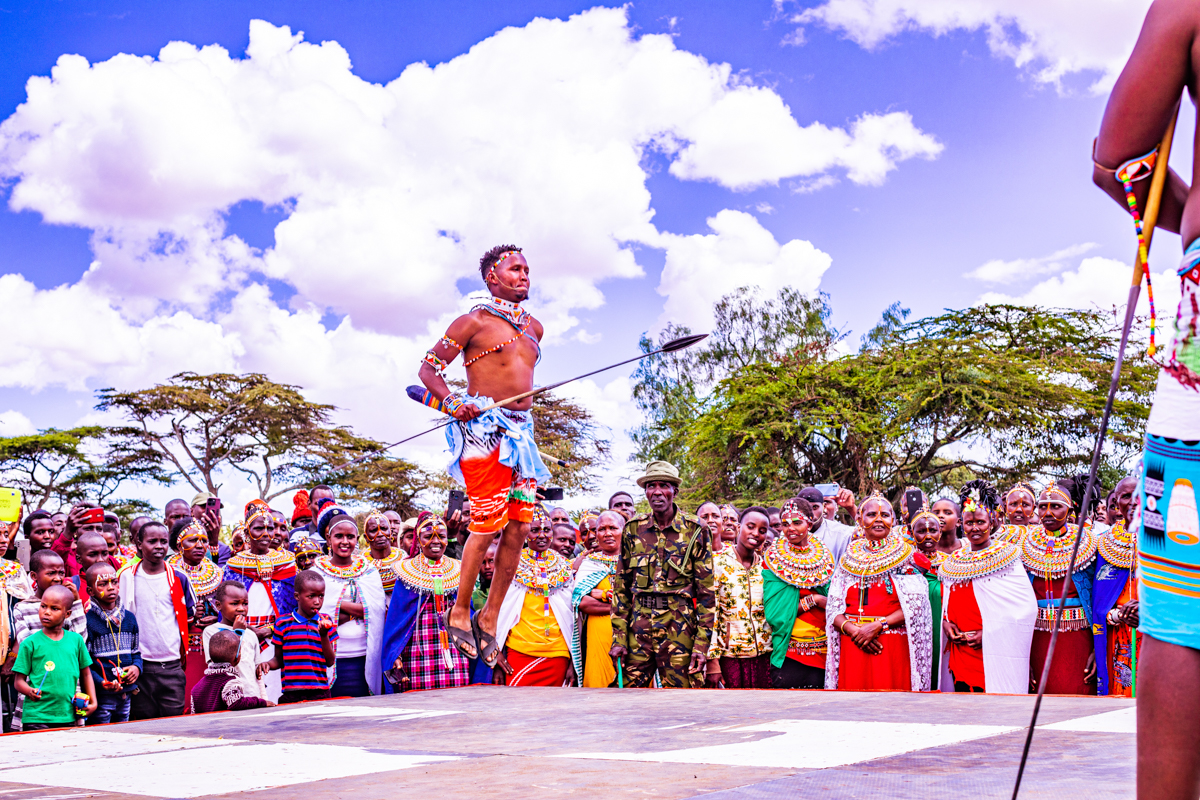
<svg viewBox="0 0 1200 800"><path fill-rule="evenodd" d="M25 696L25 730L68 728L76 716L72 700L76 686L88 694L86 714L96 710L96 686L91 678L88 643L74 631L62 630L74 594L61 584L47 587L37 610L42 630L25 637L12 672L17 691Z"/></svg>

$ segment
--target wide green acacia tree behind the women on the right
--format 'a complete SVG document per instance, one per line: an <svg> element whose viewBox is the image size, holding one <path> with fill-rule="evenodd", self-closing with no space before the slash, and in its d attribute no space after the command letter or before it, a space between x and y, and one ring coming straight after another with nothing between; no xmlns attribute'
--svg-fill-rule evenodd
<svg viewBox="0 0 1200 800"><path fill-rule="evenodd" d="M877 326L853 355L792 353L722 379L689 426L692 494L782 498L838 481L928 491L1064 475L1091 457L1116 354L1099 312L977 306ZM1126 362L1110 464L1140 443L1154 369Z"/></svg>

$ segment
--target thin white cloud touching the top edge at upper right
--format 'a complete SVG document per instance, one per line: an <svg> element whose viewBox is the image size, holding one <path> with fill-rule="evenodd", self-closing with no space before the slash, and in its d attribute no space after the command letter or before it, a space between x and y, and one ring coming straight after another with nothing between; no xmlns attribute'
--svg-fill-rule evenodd
<svg viewBox="0 0 1200 800"><path fill-rule="evenodd" d="M1028 68L1038 82L1098 73L1092 91L1102 92L1124 66L1148 7L1150 0L824 0L792 20L840 31L865 48L910 30L935 36L982 30L992 53ZM803 34L793 32L787 43L803 42Z"/></svg>

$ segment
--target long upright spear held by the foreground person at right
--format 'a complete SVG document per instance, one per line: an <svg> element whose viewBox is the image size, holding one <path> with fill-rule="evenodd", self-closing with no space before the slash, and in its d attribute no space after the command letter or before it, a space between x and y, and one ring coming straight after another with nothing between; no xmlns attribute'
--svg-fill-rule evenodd
<svg viewBox="0 0 1200 800"><path fill-rule="evenodd" d="M1166 125L1166 133L1163 134L1163 140L1158 145L1158 156L1154 161L1154 173L1150 180L1150 194L1146 198L1146 217L1142 221L1142 237L1146 241L1145 258L1150 258L1150 242L1154 236L1154 225L1158 224L1158 211L1162 206L1163 200L1163 187L1166 185L1166 174L1170 172L1166 162L1171 157L1171 140L1175 137L1175 121L1178 119L1180 107L1175 107L1175 112L1171 114L1171 121ZM1124 325L1121 329L1121 344L1117 347L1117 359L1112 365L1112 380L1109 384L1109 396L1104 402L1104 414L1100 416L1100 429L1096 435L1096 447L1092 450L1092 465L1087 474L1087 488L1084 491L1084 501L1079 506L1079 534L1075 536L1075 543L1070 551L1070 566L1067 569L1067 579L1075 571L1075 560L1079 558L1079 541L1082 539L1084 534L1084 521L1087 509L1092 503L1092 494L1096 492L1096 475L1100 467L1100 451L1104 447L1104 437L1109 432L1109 417L1112 415L1112 403L1117 396L1117 386L1121 383L1121 366L1124 363L1124 350L1126 345L1129 343L1129 331L1133 327L1134 314L1138 311L1138 297L1141 295L1141 278L1145 271L1150 269L1142 258L1141 247L1138 248L1138 255L1134 257L1133 264L1133 281L1129 283L1129 297L1126 301L1126 318ZM1038 723L1038 712L1042 710L1042 697L1046 691L1046 680L1050 676L1050 663L1054 661L1054 649L1058 640L1058 620L1062 619L1063 608L1067 604L1067 593L1062 593L1062 597L1058 600L1058 612L1054 615L1054 622L1050 628L1050 646L1046 648L1046 661L1045 666L1042 668L1042 679L1038 681L1038 697L1033 700L1033 717L1030 720L1030 728L1025 733L1025 750L1021 751L1021 764L1016 769L1016 783L1013 786L1013 800L1016 800L1016 795L1021 790L1021 777L1025 775L1025 763L1030 757L1030 745L1033 744L1033 729ZM1136 638L1136 634L1134 636Z"/></svg>

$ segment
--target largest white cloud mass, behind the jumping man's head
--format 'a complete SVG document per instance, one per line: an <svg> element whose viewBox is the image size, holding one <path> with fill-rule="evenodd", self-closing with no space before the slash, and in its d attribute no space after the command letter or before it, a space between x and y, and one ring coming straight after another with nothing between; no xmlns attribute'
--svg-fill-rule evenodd
<svg viewBox="0 0 1200 800"><path fill-rule="evenodd" d="M634 245L667 249L671 314L707 314L744 283L816 289L829 257L776 242L750 215L718 213L710 235L660 231L648 152L682 180L746 190L875 185L941 150L902 112L802 126L730 65L636 37L623 8L509 28L386 84L355 76L336 42L256 20L245 58L186 42L156 58L64 55L26 90L0 124L10 205L91 230L94 263L46 290L0 276L0 384L260 371L386 439L428 419L402 387L467 303L456 282L478 281L498 242L526 248L551 348L596 341L572 312L605 302L600 282L643 275ZM272 247L228 234L244 201L286 211ZM294 295L272 299L264 277ZM406 456L440 463L437 437L416 444Z"/></svg>

